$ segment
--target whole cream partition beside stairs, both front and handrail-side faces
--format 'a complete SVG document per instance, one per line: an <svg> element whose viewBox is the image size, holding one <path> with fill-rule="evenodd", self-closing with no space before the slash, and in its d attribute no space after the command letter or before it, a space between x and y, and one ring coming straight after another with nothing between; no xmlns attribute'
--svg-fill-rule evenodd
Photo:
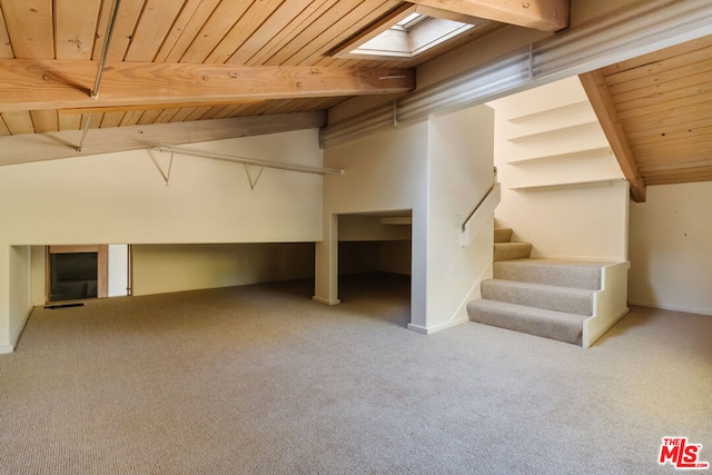
<svg viewBox="0 0 712 475"><path fill-rule="evenodd" d="M469 248L462 222L493 182L492 111L487 107L345 142L325 151L325 165L347 168L324 185L325 236L317 244L315 299L338 303L335 250L338 217L412 209L409 328L433 333L466 321L492 264L492 226Z"/></svg>

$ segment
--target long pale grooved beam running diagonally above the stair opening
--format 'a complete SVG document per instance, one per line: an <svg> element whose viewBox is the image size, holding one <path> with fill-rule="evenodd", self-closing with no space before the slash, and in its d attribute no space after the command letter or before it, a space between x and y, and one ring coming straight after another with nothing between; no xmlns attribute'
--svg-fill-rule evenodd
<svg viewBox="0 0 712 475"><path fill-rule="evenodd" d="M425 120L431 115L486 103L712 34L710 0L634 2L589 20L495 57L486 65L432 82L395 101L342 118L322 130L322 146L334 147L375 131Z"/></svg>

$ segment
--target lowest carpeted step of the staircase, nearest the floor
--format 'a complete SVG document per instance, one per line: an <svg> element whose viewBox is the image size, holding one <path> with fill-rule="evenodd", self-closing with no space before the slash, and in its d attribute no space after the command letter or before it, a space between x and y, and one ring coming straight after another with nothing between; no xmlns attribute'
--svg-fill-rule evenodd
<svg viewBox="0 0 712 475"><path fill-rule="evenodd" d="M467 304L469 319L544 338L581 345L583 320L587 317L563 311L479 299Z"/></svg>

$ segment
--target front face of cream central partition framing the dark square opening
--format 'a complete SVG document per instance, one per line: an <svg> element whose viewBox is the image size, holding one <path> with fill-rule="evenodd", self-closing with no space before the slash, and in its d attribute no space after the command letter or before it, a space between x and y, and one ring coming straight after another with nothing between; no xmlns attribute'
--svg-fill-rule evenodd
<svg viewBox="0 0 712 475"><path fill-rule="evenodd" d="M325 150L326 167L347 171L324 178L324 237L316 245L315 300L339 301L339 215L413 210L412 315L424 321L427 128L427 122L419 122Z"/></svg>

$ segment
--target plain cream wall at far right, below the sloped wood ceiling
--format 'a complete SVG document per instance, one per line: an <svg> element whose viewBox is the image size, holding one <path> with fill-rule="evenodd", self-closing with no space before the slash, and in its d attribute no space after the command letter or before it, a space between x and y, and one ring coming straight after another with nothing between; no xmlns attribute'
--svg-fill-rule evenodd
<svg viewBox="0 0 712 475"><path fill-rule="evenodd" d="M712 315L712 182L647 187L631 205L633 305Z"/></svg>

